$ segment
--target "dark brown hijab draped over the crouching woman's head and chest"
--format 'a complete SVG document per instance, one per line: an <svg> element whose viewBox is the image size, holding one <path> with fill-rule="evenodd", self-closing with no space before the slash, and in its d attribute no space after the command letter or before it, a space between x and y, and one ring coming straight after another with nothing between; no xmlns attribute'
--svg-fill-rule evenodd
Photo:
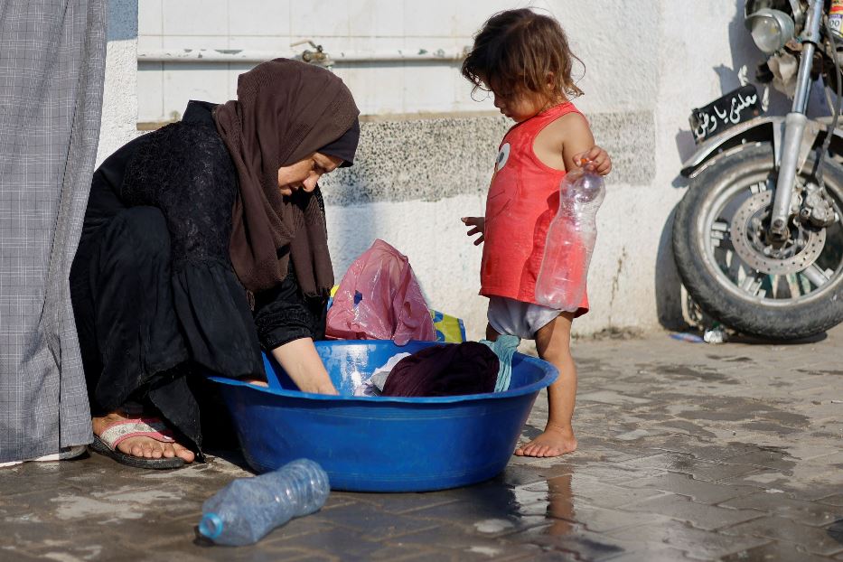
<svg viewBox="0 0 843 562"><path fill-rule="evenodd" d="M215 109L217 131L239 176L231 263L249 291L280 283L288 258L304 295L330 291L333 267L323 211L314 193L282 195L278 168L338 139L359 113L351 91L332 72L286 59L240 74L237 100Z"/></svg>

